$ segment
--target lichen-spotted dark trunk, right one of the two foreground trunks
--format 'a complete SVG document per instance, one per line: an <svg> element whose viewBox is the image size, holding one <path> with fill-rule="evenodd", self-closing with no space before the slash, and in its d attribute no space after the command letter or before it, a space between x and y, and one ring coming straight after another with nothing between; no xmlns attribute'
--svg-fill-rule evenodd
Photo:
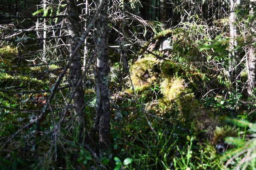
<svg viewBox="0 0 256 170"><path fill-rule="evenodd" d="M97 110L98 131L99 131L99 150L100 157L111 157L110 152L110 80L109 80L109 63L108 63L108 0L97 0L103 3L99 19L96 21L96 73L95 79L99 82L97 92ZM98 96L100 94L100 96ZM99 104L99 105L98 105Z"/></svg>

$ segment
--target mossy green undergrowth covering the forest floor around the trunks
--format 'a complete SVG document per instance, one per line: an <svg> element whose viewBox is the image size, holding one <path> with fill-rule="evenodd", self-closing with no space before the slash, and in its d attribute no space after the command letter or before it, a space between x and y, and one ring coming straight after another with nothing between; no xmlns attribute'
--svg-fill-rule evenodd
<svg viewBox="0 0 256 170"><path fill-rule="evenodd" d="M70 89L64 88L52 100L53 111L47 110L44 115L42 133L36 133L36 125L21 130L8 144L8 149L0 153L0 169L255 169L255 113L247 114L247 110L255 108L255 99L250 96L248 100L253 102L244 106L241 100L246 97L241 94L241 88L231 89L232 83L227 79L226 72L215 67L214 61L221 60L225 51L219 52L219 57L216 57L218 51L214 47L219 43L223 44L223 48L226 47L225 39L221 41L221 36L216 37L215 41L218 43L209 46L207 40L192 43L195 42L195 34L175 29L156 35L153 43L164 37L172 37L174 50L170 55L158 50L152 51L165 60L141 51L140 58L130 67L134 91L131 82L127 81L129 75L122 73L123 64L116 63L116 59L111 62L111 100L114 101L111 105L113 160L106 157L96 160L90 152L87 145L99 154L98 144L88 142L90 140L87 133L79 136L81 124L78 124L78 116L73 113L72 105L64 116L64 125L61 129L55 129L61 119L60 110L65 107L64 103L70 96ZM210 52L212 49L215 51ZM204 58L202 56L206 54L206 50L209 50L209 55ZM3 67L3 72L0 72L1 89L10 90L0 92L2 147L10 136L38 117L38 112L44 107L50 94L49 91L40 91L49 90L59 74L57 71L44 76L25 76L19 72L58 69L63 63L31 69L9 69L6 66L12 66L16 62L14 57L19 53L17 48L6 46L0 52L5 57L0 61ZM55 57L59 58L55 52L51 52L47 60ZM201 58L203 61L212 61L212 65L194 62ZM225 63L223 64L225 67ZM208 67L211 69L207 69ZM19 72L9 72L15 70ZM91 70L88 72L92 73ZM90 75L85 79L84 95L87 105L84 111L89 132L93 129L97 104L94 80ZM67 80L65 76L61 86L66 86ZM38 92L23 94L25 87ZM11 90L15 93L11 93ZM33 111L28 112L28 109ZM240 119L234 119L237 117ZM53 130L58 131L58 135L54 135ZM83 143L79 143L81 138ZM218 146L225 148L222 155L216 152Z"/></svg>

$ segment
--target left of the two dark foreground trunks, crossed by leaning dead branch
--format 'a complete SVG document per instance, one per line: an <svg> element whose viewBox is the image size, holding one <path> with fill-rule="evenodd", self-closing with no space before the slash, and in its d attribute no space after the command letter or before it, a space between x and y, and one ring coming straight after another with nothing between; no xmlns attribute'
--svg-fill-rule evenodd
<svg viewBox="0 0 256 170"><path fill-rule="evenodd" d="M79 15L78 9L76 6L75 0L67 0L67 15L68 15L68 33L69 33L69 45L70 45L70 57L72 56L73 52L75 51L76 47L78 46L79 40ZM78 52L78 55L75 57L74 61L70 65L70 72L69 72L69 84L74 92L74 109L76 114L79 114L78 121L81 123L79 129L79 135L81 137L82 133L84 132L84 128L86 126L86 116L84 114L84 86L80 84L78 87L77 82L80 78L82 78L82 65L81 65L81 56Z"/></svg>

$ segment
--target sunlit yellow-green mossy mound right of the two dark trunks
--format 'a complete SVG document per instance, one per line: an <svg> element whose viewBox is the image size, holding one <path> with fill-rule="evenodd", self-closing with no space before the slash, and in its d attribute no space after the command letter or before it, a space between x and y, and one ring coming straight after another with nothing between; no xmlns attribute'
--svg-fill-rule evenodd
<svg viewBox="0 0 256 170"><path fill-rule="evenodd" d="M131 66L130 72L135 92L149 99L144 100L146 109L196 133L204 131L200 136L213 140L218 118L201 108L193 93L196 88L191 86L204 82L206 76L201 76L196 68L187 69L168 58L163 61L153 55L143 57ZM129 91L132 92L132 88Z"/></svg>

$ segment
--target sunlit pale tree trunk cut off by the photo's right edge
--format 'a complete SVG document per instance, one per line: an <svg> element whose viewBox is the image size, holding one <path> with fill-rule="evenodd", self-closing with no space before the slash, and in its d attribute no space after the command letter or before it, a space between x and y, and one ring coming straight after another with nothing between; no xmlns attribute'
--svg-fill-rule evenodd
<svg viewBox="0 0 256 170"><path fill-rule="evenodd" d="M254 4L255 0L250 0L250 16L252 16L254 14L253 12L253 8L254 8ZM255 30L255 26L256 26L256 21L252 20L249 22L249 29L250 29L250 33L252 35L252 42L255 42L255 34L256 34L256 30ZM249 46L249 56L248 56L248 89L247 92L249 95L253 95L253 89L256 88L256 49L255 47L253 47L253 45Z"/></svg>

